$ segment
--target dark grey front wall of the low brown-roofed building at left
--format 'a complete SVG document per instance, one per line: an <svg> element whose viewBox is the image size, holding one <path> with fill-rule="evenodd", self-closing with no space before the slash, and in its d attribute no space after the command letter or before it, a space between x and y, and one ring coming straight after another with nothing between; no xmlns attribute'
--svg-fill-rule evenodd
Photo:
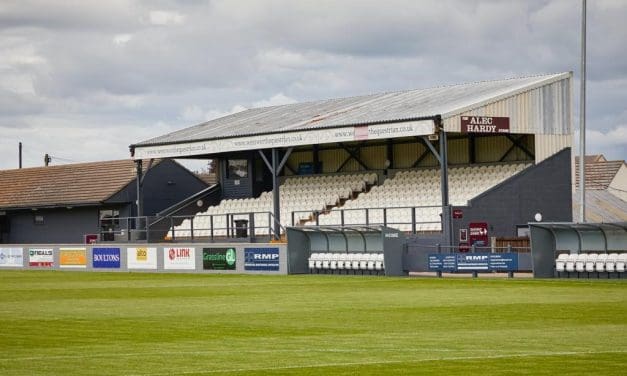
<svg viewBox="0 0 627 376"><path fill-rule="evenodd" d="M43 225L36 225L34 216L44 217ZM10 232L5 243L83 243L85 234L100 232L98 207L72 209L39 209L8 213Z"/></svg>

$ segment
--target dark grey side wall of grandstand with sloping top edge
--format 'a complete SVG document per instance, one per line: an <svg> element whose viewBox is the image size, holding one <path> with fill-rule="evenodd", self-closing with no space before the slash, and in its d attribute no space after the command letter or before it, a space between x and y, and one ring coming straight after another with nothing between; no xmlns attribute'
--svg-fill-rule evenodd
<svg viewBox="0 0 627 376"><path fill-rule="evenodd" d="M468 182L472 184L472 182ZM516 236L516 225L534 221L572 220L570 148L532 166L470 201L462 219L452 219L453 244L459 244L459 229L471 222L487 222L488 236Z"/></svg>

